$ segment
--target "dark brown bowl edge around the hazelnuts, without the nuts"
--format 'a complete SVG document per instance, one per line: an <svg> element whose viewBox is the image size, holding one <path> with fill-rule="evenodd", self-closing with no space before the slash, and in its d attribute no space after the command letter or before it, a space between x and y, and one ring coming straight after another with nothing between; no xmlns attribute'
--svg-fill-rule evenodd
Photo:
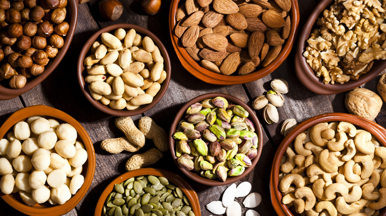
<svg viewBox="0 0 386 216"><path fill-rule="evenodd" d="M67 36L65 36L64 38L63 47L59 49L59 52L57 53L55 58L50 60L49 64L45 67L44 72L36 77L27 78L27 83L21 89L12 89L0 85L0 100L12 99L31 90L33 87L37 86L39 83L45 80L47 76L51 74L53 70L55 70L55 68L59 65L64 55L66 54L68 47L70 46L72 37L74 36L76 22L78 19L78 3L79 2L77 0L67 1L67 18L65 21L68 22L70 28L68 30Z"/></svg>

